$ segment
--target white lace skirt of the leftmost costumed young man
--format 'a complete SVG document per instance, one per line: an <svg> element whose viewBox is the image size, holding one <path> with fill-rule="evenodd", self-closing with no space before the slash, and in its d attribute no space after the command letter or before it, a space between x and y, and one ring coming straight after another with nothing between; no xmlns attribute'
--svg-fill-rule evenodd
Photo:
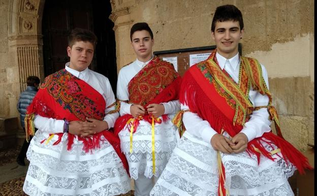
<svg viewBox="0 0 317 196"><path fill-rule="evenodd" d="M106 139L100 149L85 153L77 139L72 149L67 150L67 134L54 146L57 135L48 144L40 144L45 138L48 133L38 130L30 141L26 154L30 164L23 186L26 194L109 196L130 190L129 176Z"/></svg>

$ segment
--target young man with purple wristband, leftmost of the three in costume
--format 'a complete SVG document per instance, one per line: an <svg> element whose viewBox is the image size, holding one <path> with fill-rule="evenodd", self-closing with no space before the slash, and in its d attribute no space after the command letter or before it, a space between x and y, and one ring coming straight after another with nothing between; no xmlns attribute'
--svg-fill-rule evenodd
<svg viewBox="0 0 317 196"><path fill-rule="evenodd" d="M108 131L119 116L107 77L88 69L97 37L84 29L69 36L65 69L44 79L27 109L28 195L118 195L130 190L128 162Z"/></svg>

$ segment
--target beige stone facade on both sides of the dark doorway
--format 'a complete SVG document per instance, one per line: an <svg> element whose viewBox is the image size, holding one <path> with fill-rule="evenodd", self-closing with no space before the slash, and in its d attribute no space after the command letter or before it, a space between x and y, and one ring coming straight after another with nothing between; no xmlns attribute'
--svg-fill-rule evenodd
<svg viewBox="0 0 317 196"><path fill-rule="evenodd" d="M153 51L214 45L217 6L236 5L245 34L242 53L265 65L284 136L304 151L314 143L314 1L110 0L117 67L135 60L130 28L149 23ZM44 78L42 15L45 0L0 0L0 117L17 117L28 75Z"/></svg>

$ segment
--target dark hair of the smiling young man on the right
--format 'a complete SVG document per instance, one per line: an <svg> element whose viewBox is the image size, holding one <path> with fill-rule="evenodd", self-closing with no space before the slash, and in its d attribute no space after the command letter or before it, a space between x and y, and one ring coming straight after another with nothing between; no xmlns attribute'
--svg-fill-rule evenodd
<svg viewBox="0 0 317 196"><path fill-rule="evenodd" d="M238 21L240 24L240 31L243 29L242 13L237 7L235 7L234 5L217 7L212 19L211 31L214 32L216 22L224 22L229 20Z"/></svg>

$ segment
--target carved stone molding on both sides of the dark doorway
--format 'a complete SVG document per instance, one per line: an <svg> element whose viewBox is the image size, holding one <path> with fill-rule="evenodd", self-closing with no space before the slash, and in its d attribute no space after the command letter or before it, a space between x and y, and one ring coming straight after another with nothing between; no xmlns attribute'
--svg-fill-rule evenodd
<svg viewBox="0 0 317 196"><path fill-rule="evenodd" d="M113 31L117 37L118 27L122 27L124 31L129 30L133 23L128 7L135 5L136 2L129 0L124 4L122 0L110 0L110 3L113 11L109 18L115 23ZM20 84L20 92L25 90L27 76L36 75L41 81L44 79L42 35L44 4L45 0L10 0L9 2L9 64L17 73L15 75L18 75L16 82ZM120 40L116 39L116 44L119 47ZM117 51L117 55L118 53L120 52ZM119 59L117 65L120 65Z"/></svg>

